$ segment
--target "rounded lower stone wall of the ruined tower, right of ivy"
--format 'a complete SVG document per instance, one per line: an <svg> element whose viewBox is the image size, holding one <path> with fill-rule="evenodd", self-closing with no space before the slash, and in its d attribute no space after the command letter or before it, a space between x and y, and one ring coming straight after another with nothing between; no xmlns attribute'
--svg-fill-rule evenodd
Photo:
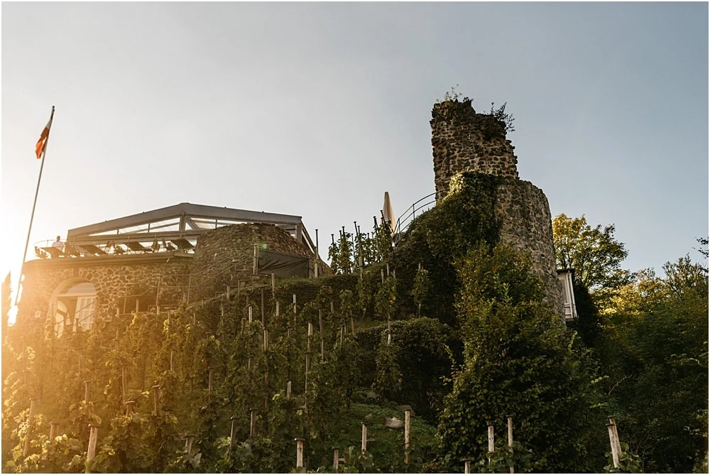
<svg viewBox="0 0 710 475"><path fill-rule="evenodd" d="M552 311L563 315L562 285L557 279L552 217L545 193L523 180L498 185L496 217L501 220L501 241L528 253L532 272L545 286Z"/></svg>

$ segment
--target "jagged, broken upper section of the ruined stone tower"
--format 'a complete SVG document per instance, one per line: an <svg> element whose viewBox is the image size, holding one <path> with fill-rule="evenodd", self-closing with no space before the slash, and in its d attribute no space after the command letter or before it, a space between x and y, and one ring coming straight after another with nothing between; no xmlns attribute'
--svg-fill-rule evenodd
<svg viewBox="0 0 710 475"><path fill-rule="evenodd" d="M457 172L471 170L518 178L518 158L501 121L476 114L471 101L445 101L432 109L432 149L437 199Z"/></svg>

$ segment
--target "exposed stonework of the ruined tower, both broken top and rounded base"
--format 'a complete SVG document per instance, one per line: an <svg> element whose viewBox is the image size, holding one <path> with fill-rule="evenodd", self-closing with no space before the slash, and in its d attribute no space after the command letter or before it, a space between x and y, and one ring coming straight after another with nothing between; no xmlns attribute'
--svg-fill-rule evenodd
<svg viewBox="0 0 710 475"><path fill-rule="evenodd" d="M435 104L430 124L437 200L446 196L449 182L459 172L501 177L495 210L500 241L529 254L552 310L564 315L550 204L540 188L518 178L518 158L506 138L506 125L491 114L477 114L470 99Z"/></svg>

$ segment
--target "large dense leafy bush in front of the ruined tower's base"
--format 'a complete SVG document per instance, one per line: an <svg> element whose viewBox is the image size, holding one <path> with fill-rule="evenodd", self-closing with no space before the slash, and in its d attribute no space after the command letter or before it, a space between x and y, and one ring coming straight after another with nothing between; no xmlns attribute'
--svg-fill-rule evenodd
<svg viewBox="0 0 710 475"><path fill-rule="evenodd" d="M532 450L520 471L601 468L603 416L584 350L540 300L529 264L504 246L471 249L457 264L464 364L444 400L444 460L486 457L486 427L513 417L515 439Z"/></svg>

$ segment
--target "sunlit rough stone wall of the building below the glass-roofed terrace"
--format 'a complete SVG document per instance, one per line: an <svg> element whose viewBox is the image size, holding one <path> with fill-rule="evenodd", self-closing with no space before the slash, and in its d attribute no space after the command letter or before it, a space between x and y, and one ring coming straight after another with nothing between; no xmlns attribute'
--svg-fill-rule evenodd
<svg viewBox="0 0 710 475"><path fill-rule="evenodd" d="M34 321L35 312L45 318L53 294L88 281L97 292L97 319L149 305L179 305L188 300L222 293L227 285L253 278L253 244L267 244L277 252L314 258L306 246L273 224L236 224L205 232L194 254L155 253L97 258L52 258L28 261L24 266L23 293L18 322ZM313 274L313 263L310 264ZM321 265L321 275L330 272ZM189 286L189 289L188 289ZM140 294L138 297L136 295ZM133 297L131 297L133 296ZM52 315L53 317L53 315Z"/></svg>

